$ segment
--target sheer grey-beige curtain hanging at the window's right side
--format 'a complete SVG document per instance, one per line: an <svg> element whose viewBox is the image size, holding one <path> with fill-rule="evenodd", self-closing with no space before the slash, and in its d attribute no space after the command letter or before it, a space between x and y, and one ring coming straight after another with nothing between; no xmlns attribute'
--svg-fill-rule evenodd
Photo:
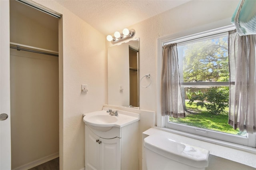
<svg viewBox="0 0 256 170"><path fill-rule="evenodd" d="M240 131L256 132L256 35L230 31L230 99L228 124Z"/></svg>

